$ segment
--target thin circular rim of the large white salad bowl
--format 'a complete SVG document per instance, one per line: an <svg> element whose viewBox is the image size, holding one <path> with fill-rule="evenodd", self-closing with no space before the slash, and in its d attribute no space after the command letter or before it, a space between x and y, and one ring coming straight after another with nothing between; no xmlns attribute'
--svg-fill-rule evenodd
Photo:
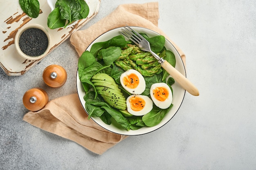
<svg viewBox="0 0 256 170"><path fill-rule="evenodd" d="M124 27L124 26L117 27L117 28L110 29L110 30L108 30L108 31L106 31L106 32L104 32L104 33L102 33L101 35L99 35L97 38L95 38L95 39L88 45L88 47L85 49L85 51L88 50L88 48L91 47L92 44L96 43L95 41L96 41L97 39L99 39L102 35L104 35L104 34L110 32L110 31L114 31L114 30L117 30L117 29L121 29L121 28L123 28L123 27ZM148 29L148 28L145 28L145 27L141 27L141 26L130 26L130 27L131 27L132 29L136 29L136 28L146 29L146 30L148 30L148 31L154 32L155 34L161 35L161 34L157 33L156 31L153 31L153 30ZM165 40L167 40L167 39L165 38ZM184 62L183 62L183 60L182 60L182 57L180 56L180 53L178 53L178 51L177 51L177 49L175 48L175 46L174 46L169 40L167 40L167 41L168 41L168 43L170 43L171 46L175 49L175 51L176 51L177 54L178 54L178 57L180 57L180 60L181 60L181 62L182 62L182 68L184 69L184 76L186 77L186 67L185 67ZM175 56L175 57L176 57L176 56ZM82 101L81 101L81 99L80 99L80 96L79 96L78 83L81 83L81 81L79 80L78 69L77 69L77 74L76 74L76 91L77 91L77 94L78 94L78 97L79 97L79 101L80 101L80 103L81 103L81 105L82 105L82 107L83 107L83 110L85 110L85 107L83 106L83 103L82 103ZM182 89L183 89L183 88L182 88ZM183 90L184 90L184 89L183 89ZM102 128L104 128L104 129L106 129L106 130L108 130L108 131L110 131L110 132L113 132L113 133L115 133L115 134L126 135L126 136L145 135L145 134L147 134L147 133L153 132L153 131L158 130L159 128L163 127L164 125L166 125L166 124L176 115L176 113L178 112L178 110L180 109L180 107L181 107L181 105L182 105L182 102L183 102L183 100L184 100L185 94L186 94L186 90L184 90L184 94L182 95L182 99L181 99L180 105L178 106L178 108L177 108L177 110L175 111L175 113L173 114L173 116L172 116L170 119L168 119L168 121L166 121L162 126L159 126L158 128L155 128L155 129L153 129L153 130L151 130L151 131L148 131L148 132L136 133L136 134L123 134L123 133L115 132L114 130L110 130L110 129L106 128L106 127L101 126L101 125L94 119L94 117L90 117L90 119L92 119L96 124L98 124L98 125L101 126ZM88 112L87 112L86 110L85 110L85 113L88 114ZM137 131L137 130L133 130L133 131Z"/></svg>

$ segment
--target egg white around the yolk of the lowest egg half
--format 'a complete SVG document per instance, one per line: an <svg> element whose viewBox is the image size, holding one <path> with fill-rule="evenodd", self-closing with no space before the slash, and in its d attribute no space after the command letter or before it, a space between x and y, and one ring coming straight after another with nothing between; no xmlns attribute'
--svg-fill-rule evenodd
<svg viewBox="0 0 256 170"><path fill-rule="evenodd" d="M144 108L142 110L139 111L135 111L132 110L131 108L131 104L130 104L130 98L131 97L141 97L142 99L144 99L144 101L146 102ZM144 96L144 95L130 95L127 99L126 99L126 105L127 105L127 111L135 116L142 116L142 115L146 115L147 113L149 113L152 108L153 108L153 102L152 100L148 97L148 96Z"/></svg>

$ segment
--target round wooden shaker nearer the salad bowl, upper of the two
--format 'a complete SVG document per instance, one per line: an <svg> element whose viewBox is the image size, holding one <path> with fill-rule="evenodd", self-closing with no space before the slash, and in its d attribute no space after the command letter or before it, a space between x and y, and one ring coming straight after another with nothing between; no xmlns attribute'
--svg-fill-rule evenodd
<svg viewBox="0 0 256 170"><path fill-rule="evenodd" d="M65 84L67 72L62 66L52 64L43 71L43 80L48 86L58 88Z"/></svg>

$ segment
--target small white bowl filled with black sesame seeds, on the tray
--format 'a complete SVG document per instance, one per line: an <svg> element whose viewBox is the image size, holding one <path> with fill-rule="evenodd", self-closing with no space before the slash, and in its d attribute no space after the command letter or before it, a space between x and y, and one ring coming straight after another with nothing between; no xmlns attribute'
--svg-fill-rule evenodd
<svg viewBox="0 0 256 170"><path fill-rule="evenodd" d="M15 36L16 50L26 60L40 60L50 50L51 38L47 29L39 24L22 26Z"/></svg>

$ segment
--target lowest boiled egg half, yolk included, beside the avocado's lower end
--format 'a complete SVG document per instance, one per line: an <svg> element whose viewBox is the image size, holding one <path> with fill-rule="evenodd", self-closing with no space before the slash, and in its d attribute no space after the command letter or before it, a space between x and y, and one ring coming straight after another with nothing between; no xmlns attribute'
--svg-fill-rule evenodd
<svg viewBox="0 0 256 170"><path fill-rule="evenodd" d="M135 116L149 113L153 108L153 102L148 96L130 95L126 99L127 111Z"/></svg>

